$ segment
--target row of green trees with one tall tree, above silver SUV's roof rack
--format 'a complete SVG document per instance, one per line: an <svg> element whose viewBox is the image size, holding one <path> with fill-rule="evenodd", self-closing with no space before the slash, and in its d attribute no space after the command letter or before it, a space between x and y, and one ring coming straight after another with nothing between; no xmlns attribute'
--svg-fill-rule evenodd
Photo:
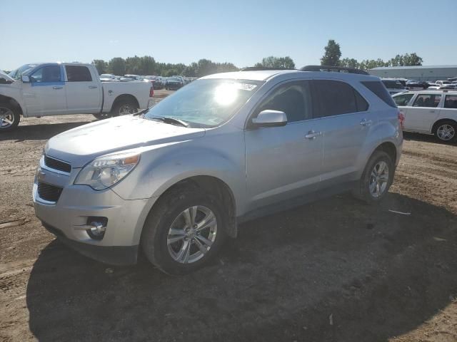
<svg viewBox="0 0 457 342"><path fill-rule="evenodd" d="M396 55L388 61L378 59L364 59L357 61L355 58L341 59L340 44L330 39L327 46L324 48L324 54L321 58L322 66L343 66L346 68L358 68L369 70L378 66L421 66L423 59L416 53L405 53L404 55Z"/></svg>

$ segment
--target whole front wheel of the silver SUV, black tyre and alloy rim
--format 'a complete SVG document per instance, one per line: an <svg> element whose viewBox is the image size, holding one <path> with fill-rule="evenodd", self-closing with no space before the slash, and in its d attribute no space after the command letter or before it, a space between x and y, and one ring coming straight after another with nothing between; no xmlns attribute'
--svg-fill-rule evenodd
<svg viewBox="0 0 457 342"><path fill-rule="evenodd" d="M188 274L204 266L226 239L226 214L216 197L198 190L172 191L153 207L141 247L167 274Z"/></svg>

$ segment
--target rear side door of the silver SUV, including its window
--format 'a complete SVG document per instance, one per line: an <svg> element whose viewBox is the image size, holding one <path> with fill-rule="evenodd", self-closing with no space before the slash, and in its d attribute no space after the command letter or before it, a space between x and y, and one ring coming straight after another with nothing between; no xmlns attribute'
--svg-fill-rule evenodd
<svg viewBox="0 0 457 342"><path fill-rule="evenodd" d="M367 101L340 80L313 80L313 113L323 127L321 186L342 185L356 177L357 160L376 122Z"/></svg>

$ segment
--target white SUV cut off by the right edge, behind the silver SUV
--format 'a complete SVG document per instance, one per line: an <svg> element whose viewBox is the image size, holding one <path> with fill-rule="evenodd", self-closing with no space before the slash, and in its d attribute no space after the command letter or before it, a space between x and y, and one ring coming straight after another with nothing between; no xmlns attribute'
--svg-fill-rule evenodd
<svg viewBox="0 0 457 342"><path fill-rule="evenodd" d="M457 91L408 91L393 100L405 116L403 130L433 134L443 142L456 140Z"/></svg>

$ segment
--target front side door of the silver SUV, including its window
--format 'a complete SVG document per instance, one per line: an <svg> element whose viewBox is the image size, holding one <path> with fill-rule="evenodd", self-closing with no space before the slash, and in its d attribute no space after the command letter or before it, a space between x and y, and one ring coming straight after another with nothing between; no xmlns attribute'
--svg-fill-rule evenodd
<svg viewBox="0 0 457 342"><path fill-rule="evenodd" d="M287 82L276 87L251 118L267 109L283 111L288 123L245 131L250 209L312 194L320 180L323 137L317 128L318 120L312 120L309 81Z"/></svg>

